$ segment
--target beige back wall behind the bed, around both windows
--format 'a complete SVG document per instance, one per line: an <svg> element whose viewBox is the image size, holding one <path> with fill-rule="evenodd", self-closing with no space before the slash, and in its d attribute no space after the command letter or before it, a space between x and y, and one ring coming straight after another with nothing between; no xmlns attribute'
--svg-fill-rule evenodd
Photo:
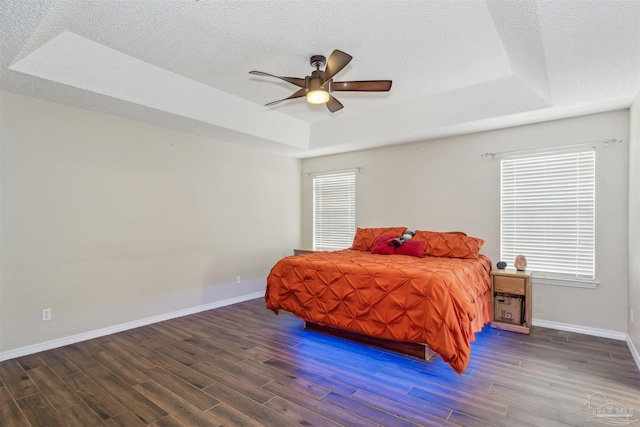
<svg viewBox="0 0 640 427"><path fill-rule="evenodd" d="M426 113L425 113L426 114ZM303 172L363 167L356 181L360 227L465 231L483 238L499 261L500 163L486 152L525 150L617 138L596 155L596 289L536 284L534 319L626 332L629 111L614 111L306 159ZM311 179L303 178L303 244L312 241ZM513 260L505 260L509 264Z"/></svg>

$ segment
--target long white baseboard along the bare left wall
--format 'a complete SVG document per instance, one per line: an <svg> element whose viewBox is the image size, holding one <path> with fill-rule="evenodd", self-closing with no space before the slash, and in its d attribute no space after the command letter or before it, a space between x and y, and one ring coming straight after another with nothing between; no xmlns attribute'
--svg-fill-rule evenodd
<svg viewBox="0 0 640 427"><path fill-rule="evenodd" d="M71 335L68 337L59 338L51 341L45 341L42 343L29 345L26 347L16 348L14 350L3 351L3 352L0 352L0 362L3 360L9 360L9 359L14 359L16 357L26 356L28 354L39 353L41 351L51 350L53 348L63 347L69 344L75 344L80 341L86 341L93 338L103 337L105 335L115 334L117 332L126 331L128 329L139 328L140 326L146 326L152 323L162 322L164 320L175 319L177 317L188 316L190 314L200 313L202 311L212 310L214 308L220 308L227 305L248 301L248 300L263 297L263 296L264 296L264 292L255 292L253 294L242 295L239 297L229 298L222 301L216 301L210 304L198 305L195 307L186 308L184 310L173 311L170 313L147 317L140 320L134 320L132 322L121 323L118 325L109 326L107 328L84 332L82 334Z"/></svg>

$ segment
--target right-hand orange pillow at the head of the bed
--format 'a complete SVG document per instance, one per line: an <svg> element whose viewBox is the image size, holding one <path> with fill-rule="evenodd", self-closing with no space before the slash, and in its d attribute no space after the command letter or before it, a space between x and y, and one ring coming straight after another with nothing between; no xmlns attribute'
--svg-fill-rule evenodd
<svg viewBox="0 0 640 427"><path fill-rule="evenodd" d="M484 240L466 234L416 231L412 240L424 241L424 254L447 258L478 258Z"/></svg>

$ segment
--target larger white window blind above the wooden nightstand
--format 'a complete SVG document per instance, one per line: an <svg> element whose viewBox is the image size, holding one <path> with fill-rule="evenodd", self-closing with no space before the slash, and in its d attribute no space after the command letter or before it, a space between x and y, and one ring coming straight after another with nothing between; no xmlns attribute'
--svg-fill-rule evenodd
<svg viewBox="0 0 640 427"><path fill-rule="evenodd" d="M527 270L594 278L595 151L505 158L501 162L501 254Z"/></svg>

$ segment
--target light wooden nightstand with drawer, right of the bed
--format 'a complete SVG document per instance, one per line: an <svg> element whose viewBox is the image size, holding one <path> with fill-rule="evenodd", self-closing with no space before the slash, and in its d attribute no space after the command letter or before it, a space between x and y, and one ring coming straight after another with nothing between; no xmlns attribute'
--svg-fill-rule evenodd
<svg viewBox="0 0 640 427"><path fill-rule="evenodd" d="M491 272L491 327L521 334L531 329L531 274L527 271Z"/></svg>

